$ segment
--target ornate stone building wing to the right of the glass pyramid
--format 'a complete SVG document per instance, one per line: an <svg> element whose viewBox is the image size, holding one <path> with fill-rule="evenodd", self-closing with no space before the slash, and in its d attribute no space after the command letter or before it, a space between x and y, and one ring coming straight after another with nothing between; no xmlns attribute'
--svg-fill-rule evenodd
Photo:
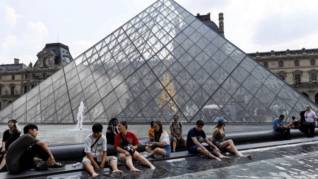
<svg viewBox="0 0 318 179"><path fill-rule="evenodd" d="M318 49L256 52L249 54L264 67L318 104Z"/></svg>

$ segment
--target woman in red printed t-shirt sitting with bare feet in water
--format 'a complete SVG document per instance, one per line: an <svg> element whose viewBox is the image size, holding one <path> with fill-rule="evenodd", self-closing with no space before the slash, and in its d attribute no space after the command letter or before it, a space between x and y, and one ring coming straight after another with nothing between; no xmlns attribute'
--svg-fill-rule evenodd
<svg viewBox="0 0 318 179"><path fill-rule="evenodd" d="M134 133L127 131L126 121L120 121L118 123L118 131L119 134L116 134L115 136L114 145L114 147L116 147L118 161L126 161L127 167L130 171L141 172L141 170L138 170L133 166L132 159L140 161L142 164L150 167L151 169L155 169L155 167L145 157L135 151L139 142Z"/></svg>

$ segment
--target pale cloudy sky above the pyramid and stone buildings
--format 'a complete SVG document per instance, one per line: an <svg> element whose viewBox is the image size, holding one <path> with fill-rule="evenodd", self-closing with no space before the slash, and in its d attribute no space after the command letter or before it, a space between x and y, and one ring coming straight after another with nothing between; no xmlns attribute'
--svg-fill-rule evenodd
<svg viewBox="0 0 318 179"><path fill-rule="evenodd" d="M34 64L46 43L73 58L155 1L0 0L0 64ZM225 38L246 53L318 48L318 1L176 0L190 13L224 13Z"/></svg>

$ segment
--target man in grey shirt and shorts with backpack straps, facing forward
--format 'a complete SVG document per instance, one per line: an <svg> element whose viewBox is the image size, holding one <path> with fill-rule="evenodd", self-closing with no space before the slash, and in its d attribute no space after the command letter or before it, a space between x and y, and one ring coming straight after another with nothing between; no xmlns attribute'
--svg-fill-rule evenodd
<svg viewBox="0 0 318 179"><path fill-rule="evenodd" d="M178 121L179 117L177 115L173 116L173 121L170 123L169 129L171 132L170 138L172 140L172 152L176 152L177 141L182 142L184 147L187 143L182 135L182 123Z"/></svg>

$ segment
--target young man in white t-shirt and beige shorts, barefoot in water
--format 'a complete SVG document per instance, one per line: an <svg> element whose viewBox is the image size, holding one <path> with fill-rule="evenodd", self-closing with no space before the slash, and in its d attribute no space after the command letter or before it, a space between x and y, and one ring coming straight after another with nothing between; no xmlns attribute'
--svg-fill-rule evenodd
<svg viewBox="0 0 318 179"><path fill-rule="evenodd" d="M113 169L112 173L122 174L123 172L117 168L117 158L115 156L107 156L107 139L104 135L101 135L103 126L101 124L94 124L92 130L93 133L89 134L85 139L84 151L86 156L82 161L85 169L92 175L92 178L95 178L99 174L94 171L94 168L104 168L105 163L107 163Z"/></svg>

